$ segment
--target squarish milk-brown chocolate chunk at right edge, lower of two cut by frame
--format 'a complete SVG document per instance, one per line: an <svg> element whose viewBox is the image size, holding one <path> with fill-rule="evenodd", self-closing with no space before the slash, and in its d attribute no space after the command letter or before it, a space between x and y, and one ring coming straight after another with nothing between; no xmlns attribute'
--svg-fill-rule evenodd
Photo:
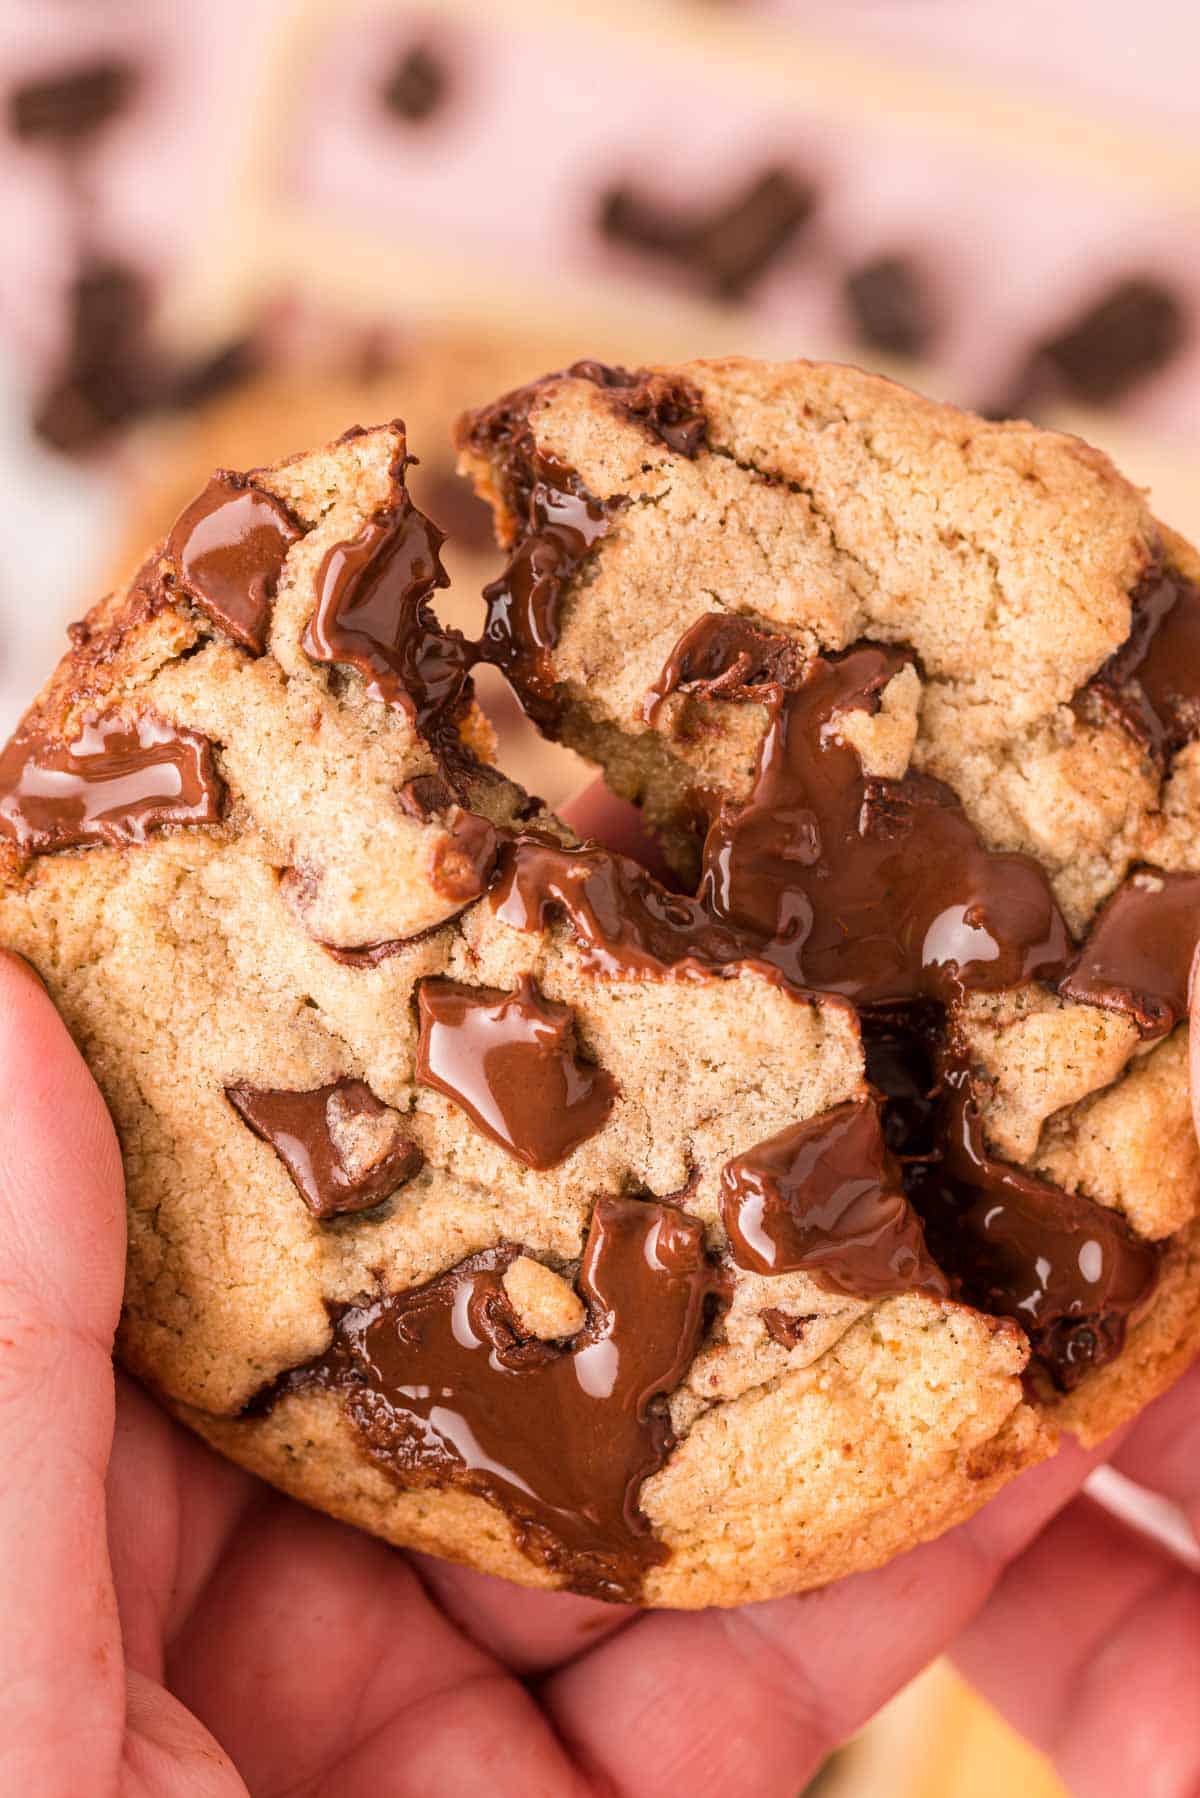
<svg viewBox="0 0 1200 1798"><path fill-rule="evenodd" d="M1139 868L1101 910L1058 991L1126 1012L1142 1036L1162 1036L1187 1016L1198 942L1200 874Z"/></svg>

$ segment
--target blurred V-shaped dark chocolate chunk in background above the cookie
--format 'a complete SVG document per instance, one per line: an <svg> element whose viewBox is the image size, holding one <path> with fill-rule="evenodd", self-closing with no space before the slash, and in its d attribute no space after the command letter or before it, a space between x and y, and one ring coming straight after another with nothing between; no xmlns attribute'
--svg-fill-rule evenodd
<svg viewBox="0 0 1200 1798"><path fill-rule="evenodd" d="M810 182L770 167L700 212L675 212L631 185L612 187L601 198L599 228L615 243L675 263L716 298L739 300L779 261L815 205Z"/></svg>

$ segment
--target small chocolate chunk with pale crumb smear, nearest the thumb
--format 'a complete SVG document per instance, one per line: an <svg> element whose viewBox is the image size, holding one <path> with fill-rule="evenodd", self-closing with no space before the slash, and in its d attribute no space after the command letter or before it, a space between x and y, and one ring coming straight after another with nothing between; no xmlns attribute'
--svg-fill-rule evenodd
<svg viewBox="0 0 1200 1798"><path fill-rule="evenodd" d="M378 1205L425 1162L396 1113L363 1081L333 1081L308 1093L263 1091L239 1081L225 1097L272 1145L313 1217Z"/></svg>

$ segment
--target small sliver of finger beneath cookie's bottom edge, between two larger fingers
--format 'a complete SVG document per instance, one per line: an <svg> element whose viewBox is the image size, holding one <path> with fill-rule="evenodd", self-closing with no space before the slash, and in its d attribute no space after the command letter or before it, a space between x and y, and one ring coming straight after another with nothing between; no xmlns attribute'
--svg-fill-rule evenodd
<svg viewBox="0 0 1200 1798"><path fill-rule="evenodd" d="M520 1591L507 1580L430 1555L408 1559L459 1629L522 1679L585 1654L642 1615L631 1606L565 1591Z"/></svg>

